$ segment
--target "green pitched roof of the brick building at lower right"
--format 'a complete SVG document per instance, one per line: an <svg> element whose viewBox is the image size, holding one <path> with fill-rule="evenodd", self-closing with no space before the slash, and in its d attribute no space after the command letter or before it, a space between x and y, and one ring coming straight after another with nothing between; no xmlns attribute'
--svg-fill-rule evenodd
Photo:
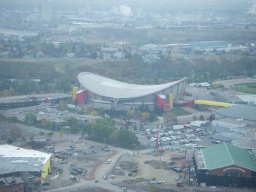
<svg viewBox="0 0 256 192"><path fill-rule="evenodd" d="M236 164L242 168L256 171L256 163L249 150L228 143L220 143L201 148L200 154L202 155L203 161L201 164L198 163L198 168L201 165L201 168L214 170Z"/></svg>

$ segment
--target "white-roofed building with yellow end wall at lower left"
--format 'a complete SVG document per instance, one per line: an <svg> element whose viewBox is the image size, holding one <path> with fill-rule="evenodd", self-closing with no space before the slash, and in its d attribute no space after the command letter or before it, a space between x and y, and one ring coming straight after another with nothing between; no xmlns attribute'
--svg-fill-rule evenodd
<svg viewBox="0 0 256 192"><path fill-rule="evenodd" d="M33 175L35 182L44 180L51 170L51 156L37 150L0 145L0 178L22 177L26 182Z"/></svg>

